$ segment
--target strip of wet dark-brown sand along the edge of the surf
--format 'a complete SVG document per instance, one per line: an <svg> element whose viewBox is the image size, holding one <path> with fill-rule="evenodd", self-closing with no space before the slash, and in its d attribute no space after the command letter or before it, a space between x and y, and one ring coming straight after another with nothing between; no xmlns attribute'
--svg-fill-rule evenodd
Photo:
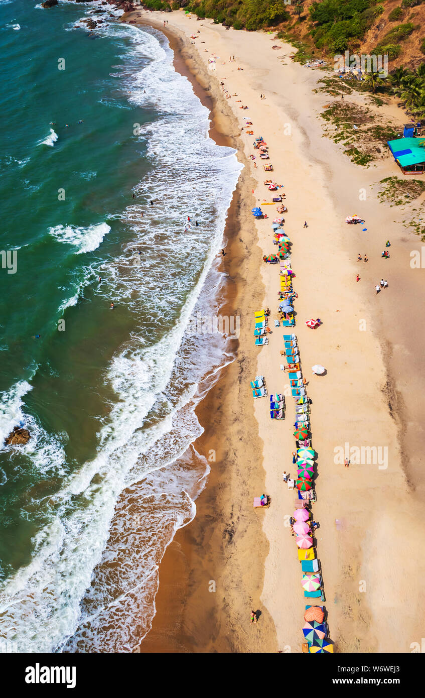
<svg viewBox="0 0 425 698"><path fill-rule="evenodd" d="M221 100L216 94L214 87L209 87L211 76L206 70L201 72L198 70L199 66L193 61L189 46L185 45L184 39L168 31L166 28L164 29L159 25L156 26L156 24L149 20L141 21L140 24L154 27L154 29L158 29L167 36L170 48L174 51L174 68L182 75L188 77L195 94L200 98L202 104L207 106L210 111L211 126L209 129L209 137L218 145L228 145L236 149L238 151L238 159L240 160L243 150L241 149L241 143L239 143L238 147L239 128L237 126L237 121L232 117L230 110L223 110L222 107L227 107L227 105L221 104ZM185 53L186 56L184 55ZM189 55L187 55L187 53ZM191 61L193 63L192 66L190 65ZM210 94L207 94L207 90ZM228 113L224 113L225 111ZM237 311L238 306L235 305L235 302L237 302L238 296L243 292L245 284L245 281L237 278L237 270L244 260L246 246L241 249L241 241L238 241L236 238L237 232L241 227L239 211L246 205L241 201L241 191L244 189L249 191L249 187L253 184L251 181L251 174L248 174L247 164L248 163L245 161L245 168L241 170L239 181L234 191L230 208L228 209L225 230L223 232L226 256L224 259L221 259L218 270L225 273L227 283L223 302L218 304L217 312L225 316L239 312L239 310ZM244 199L250 199L251 197L245 195ZM246 228L249 225L249 223L248 225L247 223L248 221L245 221ZM252 225L250 225L250 227L253 228ZM258 242L254 229L251 231L251 235L252 244ZM260 302L260 295L258 300ZM249 358L251 359L251 365L254 370L255 352L252 352ZM225 467L223 460L220 460L220 456L218 455L220 450L217 449L216 433L220 433L222 429L225 429L225 424L227 423L227 417L225 415L228 411L231 411L231 407L226 410L226 396L223 395L223 384L226 380L229 380L230 383L235 383L234 374L236 371L239 372L237 364L237 357L235 357L228 366L220 369L221 376L218 382L207 389L207 394L195 408L195 414L204 429L204 433L191 445L191 450L195 449L197 452L200 452L200 454L207 455L211 448L215 447L214 451L217 453L217 460L219 462L210 463L211 472L208 476L207 485L195 502L197 507L195 519L191 521L190 526L184 526L177 530L173 540L165 550L159 568L159 588L155 600L156 614L153 618L150 632L144 637L137 650L140 651L140 653L247 651L245 646L239 646L239 648L237 648L237 644L232 644L232 641L223 641L223 637L221 637L221 641L218 643L209 641L209 639L197 632L196 627L198 624L200 628L207 627L208 625L213 637L215 634L218 634L218 628L221 628L221 619L218 617L220 616L220 611L216 607L216 594L220 594L220 588L217 589L216 593L209 593L208 588L211 572L207 574L207 569L215 570L212 577L215 577L214 581L217 583L217 578L221 579L223 575L226 564L226 554L223 554L222 559L217 559L218 555L220 555L218 549L221 546L221 542L217 541L214 549L211 550L206 560L204 544L208 544L207 539L209 538L209 530L211 529L211 508L216 510L218 506L228 507L229 505L229 501L224 503L220 502L220 482L224 479ZM254 419L253 409L249 404L250 401L246 400L244 389L242 389L241 394L238 396L238 400L246 405L247 410L251 408L252 419ZM229 402L232 402L232 397L229 398ZM223 413L225 413L223 417L211 420L211 413L215 414L220 410L223 410ZM254 429L256 428L257 427L254 425ZM255 449L254 444L252 447ZM221 451L221 454L223 459L223 451ZM258 457L260 457L260 454L258 454ZM227 460L227 458L228 455L226 454L225 459ZM257 469L255 463L253 467ZM259 469L262 470L262 468ZM264 478L265 473L264 470L262 470L259 482L260 489L264 489ZM229 482L227 484L230 485ZM232 508L231 506L230 509L232 510ZM226 531L225 535L228 537L228 544L232 543L231 538L233 537L233 533L227 528L228 523L226 523L228 514L230 513L231 512L228 510L227 512L222 512L221 516L218 517L218 520ZM215 515L214 519L216 518ZM257 528L256 537L261 539L264 535L262 534L260 521L258 521ZM216 537L219 538L219 535ZM267 541L264 540L263 544L266 546ZM256 595L258 600L260 599L262 591L264 561L266 556L267 552L264 552L264 555L261 557L259 556L257 560L254 596ZM241 582L242 580L239 581ZM220 587L219 582L218 587ZM202 589L202 591L197 592L197 589ZM249 593L248 585L246 587L246 593ZM236 596L237 595L232 599L232 605L236 602ZM188 605L188 602L190 602L191 609L185 613L184 608ZM221 592L221 603L228 603L225 600L223 592ZM202 614L204 614L204 622L200 621ZM274 630L272 622L269 623L269 626L268 632L273 636ZM217 629L216 632L213 630L214 627ZM194 637L196 637L195 641L193 639ZM274 647L273 644L271 644L271 647ZM276 651L275 648L274 651Z"/></svg>

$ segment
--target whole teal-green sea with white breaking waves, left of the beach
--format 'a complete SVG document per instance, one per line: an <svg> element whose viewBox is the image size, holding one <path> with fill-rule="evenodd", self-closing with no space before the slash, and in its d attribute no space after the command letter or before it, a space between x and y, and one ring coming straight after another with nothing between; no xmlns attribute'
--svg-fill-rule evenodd
<svg viewBox="0 0 425 698"><path fill-rule="evenodd" d="M232 360L189 327L217 312L241 165L165 36L120 14L0 0L3 651L135 651L209 472L194 408Z"/></svg>

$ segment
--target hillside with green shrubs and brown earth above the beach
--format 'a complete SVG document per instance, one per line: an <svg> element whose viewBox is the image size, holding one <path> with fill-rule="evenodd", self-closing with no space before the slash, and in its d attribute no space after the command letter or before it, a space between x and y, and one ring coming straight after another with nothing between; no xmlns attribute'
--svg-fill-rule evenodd
<svg viewBox="0 0 425 698"><path fill-rule="evenodd" d="M156 10L178 10L234 29L276 29L314 57L345 50L388 54L390 68L425 60L425 0L145 0Z"/></svg>

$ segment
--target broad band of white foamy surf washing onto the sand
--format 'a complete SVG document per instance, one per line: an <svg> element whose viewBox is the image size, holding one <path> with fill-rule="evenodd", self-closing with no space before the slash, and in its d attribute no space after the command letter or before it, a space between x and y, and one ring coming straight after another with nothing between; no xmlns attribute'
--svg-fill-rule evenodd
<svg viewBox="0 0 425 698"><path fill-rule="evenodd" d="M175 530L193 519L209 470L202 456L187 452L202 433L193 411L199 384L207 367L230 360L223 341L189 336L186 327L202 304L213 312L200 292L207 279L220 288L211 267L240 165L232 149L207 137L207 109L174 71L158 34L124 26L98 31L131 39L125 64L140 70L120 68L124 92L159 113L142 128L152 163L137 187L142 205L121 216L133 242L102 269L133 313L134 329L105 376L116 399L98 433L96 456L44 503L50 523L34 537L31 563L0 590L1 629L20 651L131 651L149 631L158 562ZM154 209L141 219L151 198ZM187 215L200 225L185 234ZM82 253L96 249L109 230L102 223L49 232ZM98 292L109 296L105 287ZM60 445L60 435L57 440Z"/></svg>

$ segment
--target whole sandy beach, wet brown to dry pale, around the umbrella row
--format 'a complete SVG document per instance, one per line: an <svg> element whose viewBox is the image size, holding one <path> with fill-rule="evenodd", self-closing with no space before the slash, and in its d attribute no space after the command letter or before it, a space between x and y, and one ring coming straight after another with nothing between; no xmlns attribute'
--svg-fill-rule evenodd
<svg viewBox="0 0 425 698"><path fill-rule="evenodd" d="M288 44L271 50L273 34L226 30L183 12L138 10L123 19L158 29L167 20L176 69L190 71L212 110L213 137L227 139L245 165L222 262L229 283L221 314L241 321L237 355L197 408L205 431L195 450L206 457L214 450L216 458L195 519L177 532L161 562L156 616L140 651L301 651L305 600L288 527L294 492L282 478L292 469L294 406L287 397L285 420L273 422L268 398L254 401L249 387L258 374L269 394L289 387L280 369L282 329L273 328L268 346L255 348L253 341L253 313L269 306L273 327L279 288L278 267L262 262L276 251L270 226L276 209L264 207L266 221L251 216L255 205L271 201L263 184L268 174L258 158L256 169L249 158L254 138L262 135L288 206L284 227L298 293L293 331L312 400L318 454L313 513L320 522L317 556L330 637L336 652L408 653L423 635L417 608L425 570L419 554L424 272L410 266L410 253L422 243L403 225L405 211L380 203L375 187L384 177L402 175L389 153L365 169L324 137L318 113L330 99L313 89L325 73L292 63ZM213 54L216 70L209 70ZM405 121L396 103L380 107L385 112ZM245 119L254 135L246 135ZM366 225L346 225L353 213ZM387 238L391 257L382 260ZM358 253L367 253L367 265L357 261ZM381 278L389 287L376 295ZM308 329L305 320L317 317L322 325ZM311 372L317 363L326 367L325 376ZM344 468L334 459L346 444L382 447L385 463ZM253 497L263 491L271 506L253 510ZM261 611L255 626L249 625L251 608Z"/></svg>

